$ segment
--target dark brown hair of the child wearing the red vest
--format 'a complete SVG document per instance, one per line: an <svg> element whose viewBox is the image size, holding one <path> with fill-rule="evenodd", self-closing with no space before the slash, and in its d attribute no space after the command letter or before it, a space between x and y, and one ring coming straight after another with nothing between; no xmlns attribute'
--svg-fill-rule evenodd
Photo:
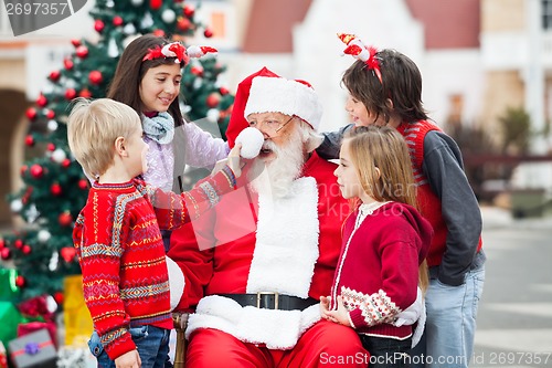
<svg viewBox="0 0 552 368"><path fill-rule="evenodd" d="M392 114L397 114L406 123L427 119L422 104L422 74L416 64L391 49L379 51L374 57L380 62L382 82L364 62L358 60L341 78L349 93L375 113L376 118L383 115L385 122Z"/></svg>

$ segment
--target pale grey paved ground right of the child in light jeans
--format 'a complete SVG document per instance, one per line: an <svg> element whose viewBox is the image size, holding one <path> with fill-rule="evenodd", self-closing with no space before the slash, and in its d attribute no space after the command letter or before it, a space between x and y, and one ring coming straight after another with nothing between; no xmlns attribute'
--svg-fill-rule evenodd
<svg viewBox="0 0 552 368"><path fill-rule="evenodd" d="M488 261L470 367L552 367L552 218L482 213Z"/></svg>

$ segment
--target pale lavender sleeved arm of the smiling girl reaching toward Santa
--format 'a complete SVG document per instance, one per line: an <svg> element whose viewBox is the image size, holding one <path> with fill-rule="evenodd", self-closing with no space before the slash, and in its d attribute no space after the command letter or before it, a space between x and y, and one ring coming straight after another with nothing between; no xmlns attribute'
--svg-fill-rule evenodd
<svg viewBox="0 0 552 368"><path fill-rule="evenodd" d="M184 123L184 145L188 165L192 167L213 167L230 153L226 141L214 138L193 123Z"/></svg>

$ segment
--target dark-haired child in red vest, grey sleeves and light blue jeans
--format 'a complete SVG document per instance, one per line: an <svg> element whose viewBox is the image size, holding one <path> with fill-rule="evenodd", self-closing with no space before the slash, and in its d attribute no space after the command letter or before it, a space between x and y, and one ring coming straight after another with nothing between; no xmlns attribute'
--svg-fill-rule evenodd
<svg viewBox="0 0 552 368"><path fill-rule="evenodd" d="M426 259L425 344L418 344L413 354L432 356L435 364L436 357L459 357L461 362L455 367L467 367L486 256L481 212L464 172L460 149L429 122L422 104L422 75L411 59L395 50L365 46L353 34L338 36L347 45L343 53L357 59L341 78L349 92L346 111L352 124L326 133L317 153L338 158L343 134L357 126L390 126L405 138L418 209L434 230Z"/></svg>

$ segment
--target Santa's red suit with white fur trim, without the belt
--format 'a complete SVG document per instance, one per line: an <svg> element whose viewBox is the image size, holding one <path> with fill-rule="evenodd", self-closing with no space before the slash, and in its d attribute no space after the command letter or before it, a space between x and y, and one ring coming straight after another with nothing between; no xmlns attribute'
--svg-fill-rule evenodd
<svg viewBox="0 0 552 368"><path fill-rule="evenodd" d="M242 360L236 361L240 367L331 367L333 362L343 367L346 357L351 366L365 366L368 354L354 330L320 320L318 304L304 311L275 311L243 307L220 296L278 292L318 301L329 295L341 224L350 212L339 194L335 169L314 153L290 196L272 199L243 187L192 222L193 230L173 232L168 255L185 278L177 309L197 305L187 329L191 338L187 367L216 367L217 362L232 367L234 359ZM257 346L266 349L252 351Z"/></svg>

